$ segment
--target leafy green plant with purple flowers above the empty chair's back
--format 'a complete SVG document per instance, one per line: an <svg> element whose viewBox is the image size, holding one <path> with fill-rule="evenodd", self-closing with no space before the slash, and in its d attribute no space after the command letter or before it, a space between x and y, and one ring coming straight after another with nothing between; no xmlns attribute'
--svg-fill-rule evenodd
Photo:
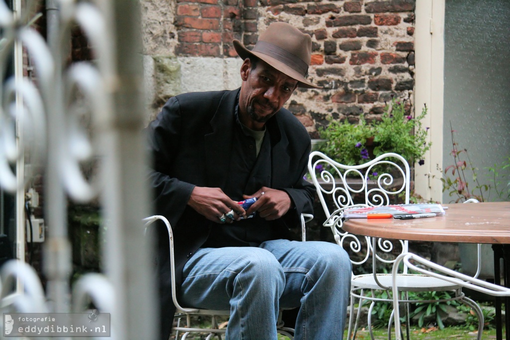
<svg viewBox="0 0 510 340"><path fill-rule="evenodd" d="M331 121L320 131L320 137L326 139L320 151L346 165L363 164L371 157L387 152L397 153L411 164L418 161L422 165L425 162L423 156L431 145L426 141L428 128L423 129L421 123L426 114L425 106L413 118L406 113L403 102L392 100L380 121L372 125L368 125L363 117L357 125L346 120Z"/></svg>

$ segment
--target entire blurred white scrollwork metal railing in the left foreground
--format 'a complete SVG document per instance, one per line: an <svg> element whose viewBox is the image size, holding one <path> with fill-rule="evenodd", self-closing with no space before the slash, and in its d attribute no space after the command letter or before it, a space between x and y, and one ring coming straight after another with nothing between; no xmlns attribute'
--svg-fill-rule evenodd
<svg viewBox="0 0 510 340"><path fill-rule="evenodd" d="M76 312L92 301L111 313L112 338L155 338L155 287L148 242L141 233L148 190L143 181L139 3L47 0L47 42L30 26L30 15L41 2L14 3L20 11L0 1L0 79L6 78L9 56L22 45L34 63L36 81L18 72L2 84L0 185L24 192L33 173L12 169L28 154L30 168L44 173L47 282L44 296L35 271L22 259L11 261L2 269L0 307ZM73 25L87 37L93 61L67 64ZM91 176L84 175L84 162L94 165ZM98 199L106 230L100 242L104 273L84 275L74 283L72 297L68 199ZM18 291L13 292L16 281Z"/></svg>

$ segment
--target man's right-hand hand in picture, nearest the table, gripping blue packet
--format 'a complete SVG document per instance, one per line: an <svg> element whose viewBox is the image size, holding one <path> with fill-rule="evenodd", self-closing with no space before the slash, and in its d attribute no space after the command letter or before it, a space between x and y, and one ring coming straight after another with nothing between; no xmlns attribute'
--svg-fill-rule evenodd
<svg viewBox="0 0 510 340"><path fill-rule="evenodd" d="M248 208L246 215L249 216L254 211L258 211L259 215L267 221L282 217L292 205L287 192L265 186L251 196L243 195L245 200L252 197L257 197L258 200Z"/></svg>

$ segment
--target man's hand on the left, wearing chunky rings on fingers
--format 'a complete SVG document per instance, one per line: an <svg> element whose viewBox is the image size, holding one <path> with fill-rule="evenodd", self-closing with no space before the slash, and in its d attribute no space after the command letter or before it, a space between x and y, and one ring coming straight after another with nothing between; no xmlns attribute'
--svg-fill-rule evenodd
<svg viewBox="0 0 510 340"><path fill-rule="evenodd" d="M241 216L246 215L244 209L236 201L226 196L220 188L195 186L191 191L188 205L199 214L206 216L208 220L216 223L232 223L233 220L230 218L226 218L224 222L220 221L221 216L231 210L235 212L235 220L240 220Z"/></svg>

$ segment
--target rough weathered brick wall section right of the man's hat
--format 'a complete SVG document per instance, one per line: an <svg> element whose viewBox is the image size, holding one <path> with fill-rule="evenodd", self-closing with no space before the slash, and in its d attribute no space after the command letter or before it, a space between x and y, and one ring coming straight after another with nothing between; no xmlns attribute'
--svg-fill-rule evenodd
<svg viewBox="0 0 510 340"><path fill-rule="evenodd" d="M289 108L313 137L327 118L372 120L392 96L412 100L413 0L265 1L264 21L289 21L312 36L310 78L324 89L298 91Z"/></svg>

